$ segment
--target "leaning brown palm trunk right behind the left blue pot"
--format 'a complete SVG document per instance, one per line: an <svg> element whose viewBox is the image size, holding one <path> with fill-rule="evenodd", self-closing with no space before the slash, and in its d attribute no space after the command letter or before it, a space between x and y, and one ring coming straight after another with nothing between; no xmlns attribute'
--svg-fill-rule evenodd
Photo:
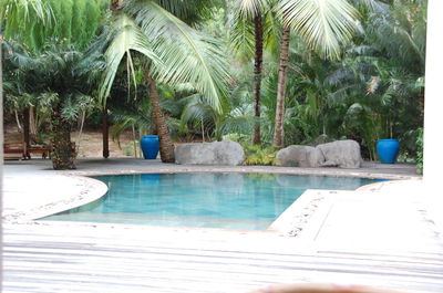
<svg viewBox="0 0 443 293"><path fill-rule="evenodd" d="M175 161L174 143L173 139L171 138L169 130L167 129L165 115L163 114L163 111L159 106L159 96L157 87L155 85L154 80L151 76L150 69L147 66L144 69L144 74L145 74L145 81L150 86L152 113L159 139L159 157L163 163L174 163Z"/></svg>

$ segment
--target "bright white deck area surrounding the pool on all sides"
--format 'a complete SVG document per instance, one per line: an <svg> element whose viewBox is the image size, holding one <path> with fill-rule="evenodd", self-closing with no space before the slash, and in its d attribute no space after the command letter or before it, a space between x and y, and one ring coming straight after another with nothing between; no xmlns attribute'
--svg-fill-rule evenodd
<svg viewBox="0 0 443 293"><path fill-rule="evenodd" d="M72 289L69 292L147 292L150 289L248 292L274 282L344 282L443 292L442 231L427 212L421 177L411 165L303 169L81 159L78 167L72 171L54 171L50 160L40 159L4 165L4 287L8 289L4 292L62 292L60 286L66 284ZM82 176L179 171L313 174L398 180L357 191L309 190L303 195L305 202L295 207L298 217L291 218L293 213L289 212L288 220L279 228L280 232L293 232L291 229L301 223L302 229L295 233L297 237L281 237L282 233L271 231L30 221L53 206L66 207L104 192L103 186ZM243 259L246 254L250 260ZM45 263L53 263L54 268ZM107 268L106 263L117 265L119 271L113 271L112 265ZM151 269L144 271L138 265ZM225 265L233 268L229 273ZM93 268L103 273L97 276ZM121 274L124 276L120 278ZM198 280L197 276L206 278ZM111 289L110 282L115 287Z"/></svg>

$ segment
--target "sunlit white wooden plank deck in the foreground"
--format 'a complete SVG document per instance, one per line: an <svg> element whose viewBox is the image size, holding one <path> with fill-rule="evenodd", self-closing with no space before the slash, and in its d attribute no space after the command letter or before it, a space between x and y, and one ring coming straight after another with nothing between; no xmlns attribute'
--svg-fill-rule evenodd
<svg viewBox="0 0 443 293"><path fill-rule="evenodd" d="M3 292L249 292L271 283L443 292L443 252L319 250L267 232L7 224Z"/></svg>

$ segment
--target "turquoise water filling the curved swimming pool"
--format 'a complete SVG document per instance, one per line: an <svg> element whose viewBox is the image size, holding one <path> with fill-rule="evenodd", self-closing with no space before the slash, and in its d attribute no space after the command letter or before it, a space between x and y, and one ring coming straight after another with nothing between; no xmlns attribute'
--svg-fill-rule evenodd
<svg viewBox="0 0 443 293"><path fill-rule="evenodd" d="M265 230L306 189L353 190L365 178L270 174L142 174L93 177L102 199L43 220Z"/></svg>

